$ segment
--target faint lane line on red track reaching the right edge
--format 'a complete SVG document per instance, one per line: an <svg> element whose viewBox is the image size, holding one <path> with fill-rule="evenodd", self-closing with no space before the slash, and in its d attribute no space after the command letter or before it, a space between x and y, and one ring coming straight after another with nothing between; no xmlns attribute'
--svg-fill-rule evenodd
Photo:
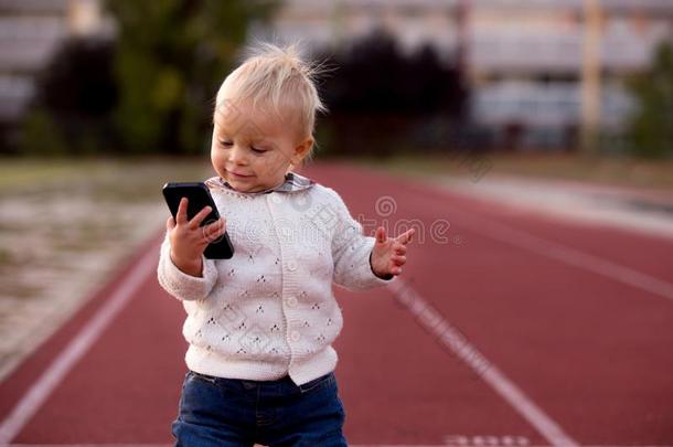
<svg viewBox="0 0 673 447"><path fill-rule="evenodd" d="M673 301L673 284L669 281L602 257L533 236L530 233L515 230L509 225L479 217L473 213L458 210L452 205L448 209L449 214L460 216L459 219L463 221L462 223L466 223L471 231L483 236L598 274Z"/></svg>

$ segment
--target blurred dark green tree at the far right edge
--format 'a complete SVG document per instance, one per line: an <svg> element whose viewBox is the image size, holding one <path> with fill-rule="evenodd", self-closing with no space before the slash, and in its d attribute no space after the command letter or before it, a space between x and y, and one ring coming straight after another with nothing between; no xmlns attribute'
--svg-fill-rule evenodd
<svg viewBox="0 0 673 447"><path fill-rule="evenodd" d="M650 158L673 155L673 47L662 44L652 67L631 83L637 111L629 135L634 155Z"/></svg>

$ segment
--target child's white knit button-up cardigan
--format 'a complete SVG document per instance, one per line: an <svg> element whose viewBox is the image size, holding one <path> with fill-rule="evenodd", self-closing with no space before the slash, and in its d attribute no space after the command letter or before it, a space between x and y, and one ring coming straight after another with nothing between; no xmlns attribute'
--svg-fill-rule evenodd
<svg viewBox="0 0 673 447"><path fill-rule="evenodd" d="M298 385L333 371L343 321L332 283L362 290L394 280L372 272L374 238L330 188L242 193L214 179L206 183L234 256L202 257L202 277L184 274L167 232L157 269L188 313L188 368L255 381L289 374Z"/></svg>

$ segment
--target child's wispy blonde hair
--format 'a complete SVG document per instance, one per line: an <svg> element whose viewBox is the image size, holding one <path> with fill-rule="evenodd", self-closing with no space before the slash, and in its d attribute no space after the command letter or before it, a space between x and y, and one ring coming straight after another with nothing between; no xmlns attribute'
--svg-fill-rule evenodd
<svg viewBox="0 0 673 447"><path fill-rule="evenodd" d="M320 72L319 64L301 57L298 43L287 46L256 43L220 86L215 113L228 100L246 102L253 108L270 106L279 118L289 116L298 125L300 138L312 137L316 113L327 111L316 88L316 75Z"/></svg>

